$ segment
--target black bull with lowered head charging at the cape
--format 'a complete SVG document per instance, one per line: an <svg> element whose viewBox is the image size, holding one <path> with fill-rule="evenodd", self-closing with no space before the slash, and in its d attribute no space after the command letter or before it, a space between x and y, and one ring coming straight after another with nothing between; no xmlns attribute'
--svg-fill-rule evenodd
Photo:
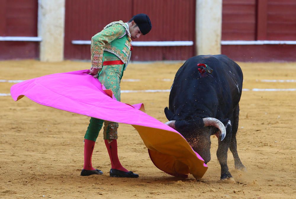
<svg viewBox="0 0 296 199"><path fill-rule="evenodd" d="M202 73L198 63L208 65L213 72ZM205 163L211 159L210 136L218 137L221 180L232 177L227 166L228 148L233 154L235 168L245 169L237 154L236 141L242 82L241 68L227 56L192 57L177 71L170 91L169 109L165 108L166 117L173 120L168 125L184 136ZM220 120L226 135L221 134L223 129L217 125L206 125L203 118Z"/></svg>

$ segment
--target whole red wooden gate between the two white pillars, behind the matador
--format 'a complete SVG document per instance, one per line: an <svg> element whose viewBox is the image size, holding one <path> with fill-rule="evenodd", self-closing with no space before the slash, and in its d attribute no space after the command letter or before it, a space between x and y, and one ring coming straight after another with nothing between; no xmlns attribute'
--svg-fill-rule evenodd
<svg viewBox="0 0 296 199"><path fill-rule="evenodd" d="M133 15L148 14L149 34L135 41L194 41L195 0L66 0L65 59L90 59L90 45L72 40L90 40L112 21L127 22ZM194 46L134 47L132 60L184 60L194 56Z"/></svg>

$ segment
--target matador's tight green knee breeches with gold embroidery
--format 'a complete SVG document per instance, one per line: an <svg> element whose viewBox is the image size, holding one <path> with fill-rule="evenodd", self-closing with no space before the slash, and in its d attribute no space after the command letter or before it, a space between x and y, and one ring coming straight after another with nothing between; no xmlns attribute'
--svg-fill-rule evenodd
<svg viewBox="0 0 296 199"><path fill-rule="evenodd" d="M105 57L104 61L119 60L117 57ZM124 64L103 66L99 74L99 81L106 89L112 90L117 101L120 102L120 79L122 77ZM104 140L117 139L118 123L91 118L84 138L96 141L99 131L104 123Z"/></svg>

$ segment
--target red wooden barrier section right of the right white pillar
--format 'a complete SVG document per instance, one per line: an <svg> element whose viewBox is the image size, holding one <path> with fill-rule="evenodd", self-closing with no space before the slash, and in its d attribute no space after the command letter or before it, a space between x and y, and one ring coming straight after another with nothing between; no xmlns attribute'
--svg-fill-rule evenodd
<svg viewBox="0 0 296 199"><path fill-rule="evenodd" d="M223 0L222 40L296 40L295 0ZM296 61L296 45L222 45L237 61Z"/></svg>

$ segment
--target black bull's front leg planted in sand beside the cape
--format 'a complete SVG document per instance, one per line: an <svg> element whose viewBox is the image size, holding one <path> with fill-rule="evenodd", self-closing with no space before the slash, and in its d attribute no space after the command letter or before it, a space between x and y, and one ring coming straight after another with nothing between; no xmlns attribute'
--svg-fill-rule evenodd
<svg viewBox="0 0 296 199"><path fill-rule="evenodd" d="M227 132L227 131L226 131ZM219 139L218 141L218 150L217 150L217 158L219 160L220 166L221 166L221 180L230 179L233 180L233 177L231 176L228 166L227 166L227 151L229 149L230 139L231 139L231 133L226 133L226 138L221 141Z"/></svg>

